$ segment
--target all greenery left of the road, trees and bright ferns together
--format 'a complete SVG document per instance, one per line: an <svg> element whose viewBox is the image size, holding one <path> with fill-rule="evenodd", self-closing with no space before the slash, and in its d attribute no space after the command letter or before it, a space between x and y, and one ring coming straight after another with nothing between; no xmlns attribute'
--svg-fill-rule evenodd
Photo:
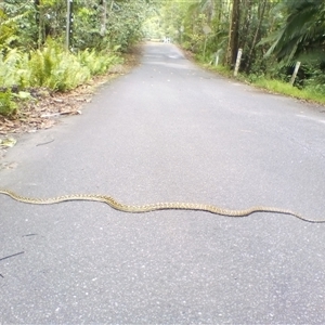
<svg viewBox="0 0 325 325"><path fill-rule="evenodd" d="M117 50L128 51L143 38L142 22L151 11L150 2L75 0L68 52L63 49L66 0L0 1L1 87L66 91L104 74L121 63ZM0 114L14 113L14 98L1 93Z"/></svg>

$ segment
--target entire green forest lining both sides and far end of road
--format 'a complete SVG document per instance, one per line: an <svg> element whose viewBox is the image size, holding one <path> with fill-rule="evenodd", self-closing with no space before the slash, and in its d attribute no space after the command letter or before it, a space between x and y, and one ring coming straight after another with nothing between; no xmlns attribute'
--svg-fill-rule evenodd
<svg viewBox="0 0 325 325"><path fill-rule="evenodd" d="M324 102L324 0L0 0L0 114L13 116L30 89L74 89L140 40L166 37L220 72L243 49L246 80Z"/></svg>

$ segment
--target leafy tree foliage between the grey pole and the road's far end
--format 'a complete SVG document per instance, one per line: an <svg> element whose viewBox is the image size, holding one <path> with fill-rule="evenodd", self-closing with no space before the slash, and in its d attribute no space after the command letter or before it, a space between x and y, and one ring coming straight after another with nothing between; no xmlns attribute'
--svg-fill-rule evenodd
<svg viewBox="0 0 325 325"><path fill-rule="evenodd" d="M146 1L106 0L101 3L100 5L99 1L80 0L75 6L75 48L102 51L119 46L121 51L127 51L143 38L142 23L150 12Z"/></svg>

